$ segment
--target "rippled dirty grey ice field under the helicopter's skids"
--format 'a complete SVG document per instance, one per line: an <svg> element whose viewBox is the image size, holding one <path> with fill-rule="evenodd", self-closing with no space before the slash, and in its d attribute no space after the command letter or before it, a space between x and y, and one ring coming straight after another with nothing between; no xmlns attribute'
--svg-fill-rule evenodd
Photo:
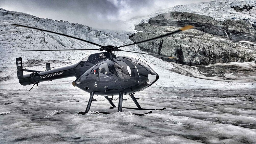
<svg viewBox="0 0 256 144"><path fill-rule="evenodd" d="M160 75L157 85L135 97L143 108L166 109L144 116L77 115L89 93L73 87L74 78L42 82L31 91L17 80L1 82L0 112L10 114L0 115L0 142L256 143L255 83L204 80L151 66ZM111 105L103 96L96 99L90 110L117 111L107 109ZM136 107L131 98L123 106Z"/></svg>

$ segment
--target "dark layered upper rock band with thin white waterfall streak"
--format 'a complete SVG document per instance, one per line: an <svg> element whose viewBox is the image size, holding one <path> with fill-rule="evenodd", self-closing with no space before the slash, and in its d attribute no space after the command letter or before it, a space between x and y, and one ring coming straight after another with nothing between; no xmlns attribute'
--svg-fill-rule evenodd
<svg viewBox="0 0 256 144"><path fill-rule="evenodd" d="M151 18L149 23L158 26L176 26L183 27L185 25L192 25L197 30L201 30L208 34L213 34L219 37L225 37L230 40L246 40L256 41L256 30L252 24L246 20L226 19L225 21L214 20L210 16L171 12L160 14Z"/></svg>

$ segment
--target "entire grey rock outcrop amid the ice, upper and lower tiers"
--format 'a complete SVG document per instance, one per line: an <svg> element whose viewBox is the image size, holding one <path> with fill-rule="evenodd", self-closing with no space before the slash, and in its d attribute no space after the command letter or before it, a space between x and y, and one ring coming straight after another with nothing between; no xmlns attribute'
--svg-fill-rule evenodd
<svg viewBox="0 0 256 144"><path fill-rule="evenodd" d="M136 25L135 29L141 32L130 39L135 42L150 39L185 25L192 25L195 29L138 46L148 52L173 56L176 59L171 61L187 65L249 62L255 58L234 42L256 41L255 28L242 19L217 21L204 15L171 12L153 17L149 23Z"/></svg>

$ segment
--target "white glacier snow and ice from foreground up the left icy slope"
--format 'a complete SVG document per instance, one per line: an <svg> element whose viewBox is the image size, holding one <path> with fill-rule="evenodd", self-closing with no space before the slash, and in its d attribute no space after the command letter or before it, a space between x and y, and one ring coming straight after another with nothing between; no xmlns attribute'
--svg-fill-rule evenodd
<svg viewBox="0 0 256 144"><path fill-rule="evenodd" d="M4 11L4 10L2 10ZM13 12L0 16L0 143L256 143L256 84L212 81L172 71L173 64L140 54L118 52L148 63L160 76L157 85L136 93L143 108L166 107L144 116L122 113L77 115L84 111L89 93L72 86L75 77L22 86L16 77L15 58L27 69L44 70L71 65L89 52L20 52L21 49L97 48L80 41L11 23L31 23L66 32L102 45L130 43L131 32L99 31L67 21L33 18ZM66 28L62 28L63 25ZM107 37L105 37L108 35ZM137 46L122 50L138 51ZM96 51L97 52L97 51ZM114 96L117 98L118 96ZM95 96L96 98L96 96ZM128 95L123 106L135 107ZM116 112L103 96L93 101L92 111ZM116 105L117 101L114 101ZM128 112L128 114L126 113Z"/></svg>

